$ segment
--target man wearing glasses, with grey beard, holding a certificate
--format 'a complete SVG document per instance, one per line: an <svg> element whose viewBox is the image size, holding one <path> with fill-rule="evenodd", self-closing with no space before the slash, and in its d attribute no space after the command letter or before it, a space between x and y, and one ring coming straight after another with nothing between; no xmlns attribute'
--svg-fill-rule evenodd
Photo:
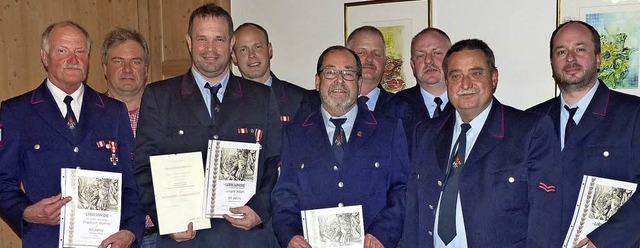
<svg viewBox="0 0 640 248"><path fill-rule="evenodd" d="M301 210L362 205L364 247L395 247L404 219L407 144L398 119L356 104L359 57L343 46L318 59L321 105L283 129L280 179L272 193L282 247L310 247Z"/></svg>

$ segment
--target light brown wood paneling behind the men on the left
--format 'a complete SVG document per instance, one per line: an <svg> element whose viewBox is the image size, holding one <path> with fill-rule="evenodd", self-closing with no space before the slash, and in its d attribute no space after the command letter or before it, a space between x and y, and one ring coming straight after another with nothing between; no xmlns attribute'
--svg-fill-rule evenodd
<svg viewBox="0 0 640 248"><path fill-rule="evenodd" d="M40 61L40 35L51 23L72 20L91 35L88 84L104 92L102 39L114 27L137 29L149 43L149 81L182 74L191 65L185 34L203 0L0 0L0 101L36 88L47 73ZM230 11L230 0L213 1ZM0 222L0 247L20 247Z"/></svg>

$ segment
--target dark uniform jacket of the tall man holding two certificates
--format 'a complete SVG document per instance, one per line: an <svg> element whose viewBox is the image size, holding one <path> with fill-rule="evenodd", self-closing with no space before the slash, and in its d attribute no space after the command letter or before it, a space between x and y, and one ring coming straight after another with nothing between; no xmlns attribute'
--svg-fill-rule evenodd
<svg viewBox="0 0 640 248"><path fill-rule="evenodd" d="M206 161L209 139L255 143L256 134L262 131L256 194L246 205L267 223L271 218L271 190L277 180L279 116L278 105L268 86L233 74L229 75L217 125L210 119L191 70L148 85L140 105L134 170L142 205L153 222L158 223L158 217L149 156L201 151ZM275 242L270 229L258 226L244 231L224 219L212 219L211 229L199 230L194 240L176 243L168 236L161 236L159 246L265 247L264 242L269 239Z"/></svg>

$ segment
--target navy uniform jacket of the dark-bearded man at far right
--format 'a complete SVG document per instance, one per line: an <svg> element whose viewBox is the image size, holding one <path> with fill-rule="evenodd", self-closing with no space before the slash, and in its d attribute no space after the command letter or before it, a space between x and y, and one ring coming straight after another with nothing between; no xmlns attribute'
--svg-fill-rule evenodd
<svg viewBox="0 0 640 248"><path fill-rule="evenodd" d="M566 234L583 175L640 182L640 98L610 90L601 81L575 129L575 139L560 153L563 221ZM560 97L529 109L549 115L560 144ZM609 221L588 235L597 247L638 247L640 193L636 191ZM635 244L635 245L634 245Z"/></svg>

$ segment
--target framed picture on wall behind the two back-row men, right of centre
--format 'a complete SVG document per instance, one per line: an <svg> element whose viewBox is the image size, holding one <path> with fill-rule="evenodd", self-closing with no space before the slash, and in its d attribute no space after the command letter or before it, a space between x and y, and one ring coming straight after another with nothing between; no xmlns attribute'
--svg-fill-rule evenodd
<svg viewBox="0 0 640 248"><path fill-rule="evenodd" d="M416 85L411 71L411 38L430 26L431 1L365 1L344 4L345 40L351 31L378 28L387 48L382 87L389 92Z"/></svg>

